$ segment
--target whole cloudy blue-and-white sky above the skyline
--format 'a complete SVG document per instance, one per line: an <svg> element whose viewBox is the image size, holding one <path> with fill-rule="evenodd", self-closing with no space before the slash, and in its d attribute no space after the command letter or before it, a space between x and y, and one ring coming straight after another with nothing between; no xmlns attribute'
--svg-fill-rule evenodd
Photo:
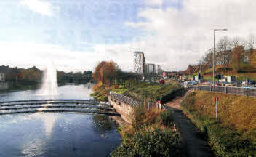
<svg viewBox="0 0 256 157"><path fill-rule="evenodd" d="M0 65L93 70L113 60L132 71L133 52L166 71L182 70L213 47L213 29L247 39L255 0L1 0Z"/></svg>

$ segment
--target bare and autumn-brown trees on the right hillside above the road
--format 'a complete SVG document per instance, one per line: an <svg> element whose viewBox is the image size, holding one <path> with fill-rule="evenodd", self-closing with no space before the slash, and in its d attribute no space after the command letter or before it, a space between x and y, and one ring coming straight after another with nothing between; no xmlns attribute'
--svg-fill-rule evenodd
<svg viewBox="0 0 256 157"><path fill-rule="evenodd" d="M196 73L212 68L214 49L207 50L198 64L188 65L187 73ZM244 40L239 37L223 36L215 47L215 65L224 71L247 71L256 69L255 36L250 35Z"/></svg>

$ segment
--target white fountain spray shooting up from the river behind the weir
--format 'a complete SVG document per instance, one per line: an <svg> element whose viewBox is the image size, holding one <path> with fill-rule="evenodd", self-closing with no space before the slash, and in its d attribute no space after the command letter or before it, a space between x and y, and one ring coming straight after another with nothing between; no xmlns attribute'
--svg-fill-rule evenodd
<svg viewBox="0 0 256 157"><path fill-rule="evenodd" d="M39 90L41 95L57 95L57 71L52 64L47 65L44 71L43 84Z"/></svg>

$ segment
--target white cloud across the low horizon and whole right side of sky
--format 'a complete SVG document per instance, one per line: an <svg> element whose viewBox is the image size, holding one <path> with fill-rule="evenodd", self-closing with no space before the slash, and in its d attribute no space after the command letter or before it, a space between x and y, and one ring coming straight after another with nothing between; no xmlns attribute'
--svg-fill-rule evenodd
<svg viewBox="0 0 256 157"><path fill-rule="evenodd" d="M226 33L217 33L217 40L225 35L244 39L251 33L256 35L255 8L254 0L183 0L182 9L147 7L137 14L143 21L125 23L148 32L132 42L97 44L93 46L95 52L71 52L49 44L0 43L0 52L4 52L1 61L13 66L44 67L47 60L54 60L60 70L82 71L112 59L131 71L132 52L141 50L149 63L160 64L165 70L183 69L212 48L214 28L228 28Z"/></svg>

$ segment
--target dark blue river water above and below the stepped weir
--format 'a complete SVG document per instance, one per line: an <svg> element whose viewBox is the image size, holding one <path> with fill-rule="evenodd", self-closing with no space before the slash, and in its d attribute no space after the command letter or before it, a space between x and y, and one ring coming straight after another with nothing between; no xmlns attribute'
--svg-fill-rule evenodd
<svg viewBox="0 0 256 157"><path fill-rule="evenodd" d="M59 87L60 99L89 99L87 85ZM2 100L40 99L37 90L0 94ZM44 96L45 97L45 96ZM107 156L121 142L116 121L86 113L0 116L0 156Z"/></svg>

